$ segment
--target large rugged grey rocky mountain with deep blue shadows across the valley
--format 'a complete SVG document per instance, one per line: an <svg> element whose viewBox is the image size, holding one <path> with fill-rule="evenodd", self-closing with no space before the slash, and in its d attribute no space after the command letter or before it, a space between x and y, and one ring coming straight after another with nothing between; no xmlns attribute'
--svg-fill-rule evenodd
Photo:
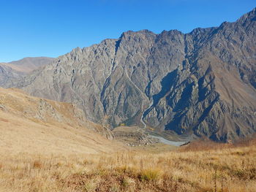
<svg viewBox="0 0 256 192"><path fill-rule="evenodd" d="M112 127L150 126L214 140L256 131L256 9L189 34L127 31L75 48L7 86L78 104Z"/></svg>

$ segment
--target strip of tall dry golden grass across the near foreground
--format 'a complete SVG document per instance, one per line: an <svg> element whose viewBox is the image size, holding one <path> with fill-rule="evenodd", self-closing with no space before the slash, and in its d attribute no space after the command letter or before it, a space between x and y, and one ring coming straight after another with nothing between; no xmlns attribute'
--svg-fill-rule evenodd
<svg viewBox="0 0 256 192"><path fill-rule="evenodd" d="M255 145L169 153L4 155L1 191L255 191Z"/></svg>

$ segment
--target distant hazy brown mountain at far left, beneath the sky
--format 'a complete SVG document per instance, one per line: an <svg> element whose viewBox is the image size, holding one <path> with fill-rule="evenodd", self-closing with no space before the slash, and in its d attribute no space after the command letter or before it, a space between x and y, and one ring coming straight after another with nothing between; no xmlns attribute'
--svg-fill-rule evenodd
<svg viewBox="0 0 256 192"><path fill-rule="evenodd" d="M23 58L19 61L12 61L10 63L0 64L0 86L12 81L17 81L20 77L38 69L39 67L49 64L54 58L37 57L37 58Z"/></svg>

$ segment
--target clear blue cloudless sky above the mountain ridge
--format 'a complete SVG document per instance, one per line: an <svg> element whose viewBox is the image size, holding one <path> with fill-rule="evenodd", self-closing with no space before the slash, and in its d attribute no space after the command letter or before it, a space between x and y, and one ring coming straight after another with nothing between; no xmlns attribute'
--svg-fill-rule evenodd
<svg viewBox="0 0 256 192"><path fill-rule="evenodd" d="M255 0L0 0L0 61L57 57L128 30L187 33L254 7Z"/></svg>

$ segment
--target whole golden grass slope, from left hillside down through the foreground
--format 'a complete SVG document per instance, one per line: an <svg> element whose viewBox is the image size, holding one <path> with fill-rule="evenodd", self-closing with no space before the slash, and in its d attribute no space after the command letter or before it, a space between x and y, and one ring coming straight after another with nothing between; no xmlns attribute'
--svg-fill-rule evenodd
<svg viewBox="0 0 256 192"><path fill-rule="evenodd" d="M0 89L0 191L256 191L255 139L124 147L71 109Z"/></svg>

